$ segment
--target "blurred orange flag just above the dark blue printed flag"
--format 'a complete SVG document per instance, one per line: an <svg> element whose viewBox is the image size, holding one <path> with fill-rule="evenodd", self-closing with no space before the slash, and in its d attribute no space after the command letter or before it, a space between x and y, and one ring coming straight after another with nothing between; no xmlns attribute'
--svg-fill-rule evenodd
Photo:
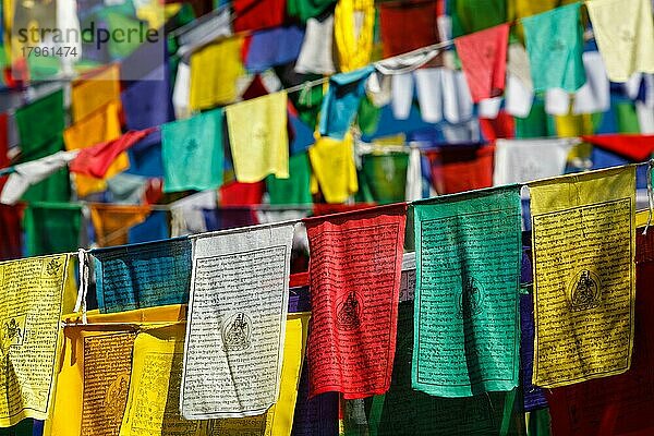
<svg viewBox="0 0 654 436"><path fill-rule="evenodd" d="M90 205L90 221L99 246L124 245L130 228L145 221L149 206L95 203Z"/></svg>

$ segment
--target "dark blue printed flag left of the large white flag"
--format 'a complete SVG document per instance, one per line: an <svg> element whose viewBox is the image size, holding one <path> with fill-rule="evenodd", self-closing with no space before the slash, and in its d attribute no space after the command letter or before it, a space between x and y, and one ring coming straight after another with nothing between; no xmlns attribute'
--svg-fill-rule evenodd
<svg viewBox="0 0 654 436"><path fill-rule="evenodd" d="M93 250L101 313L185 304L191 284L191 241L165 241Z"/></svg>

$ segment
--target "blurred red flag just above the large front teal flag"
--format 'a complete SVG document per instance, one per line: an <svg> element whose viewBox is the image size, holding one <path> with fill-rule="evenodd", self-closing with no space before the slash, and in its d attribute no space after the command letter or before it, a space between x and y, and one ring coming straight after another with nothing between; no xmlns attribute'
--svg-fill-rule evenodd
<svg viewBox="0 0 654 436"><path fill-rule="evenodd" d="M451 146L425 155L432 184L440 195L493 186L495 146Z"/></svg>

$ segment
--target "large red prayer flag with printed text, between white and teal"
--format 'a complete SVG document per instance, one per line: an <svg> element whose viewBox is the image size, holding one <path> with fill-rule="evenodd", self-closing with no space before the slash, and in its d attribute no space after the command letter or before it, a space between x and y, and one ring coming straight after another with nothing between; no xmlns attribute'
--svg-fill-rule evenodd
<svg viewBox="0 0 654 436"><path fill-rule="evenodd" d="M310 395L390 385L407 205L304 220L311 263Z"/></svg>

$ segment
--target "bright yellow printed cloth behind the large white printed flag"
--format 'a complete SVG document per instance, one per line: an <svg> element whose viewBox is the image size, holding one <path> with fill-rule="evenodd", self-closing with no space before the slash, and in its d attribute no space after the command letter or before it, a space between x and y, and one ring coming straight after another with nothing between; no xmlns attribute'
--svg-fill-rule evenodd
<svg viewBox="0 0 654 436"><path fill-rule="evenodd" d="M128 408L121 436L166 432L184 435L291 434L302 360L308 330L308 313L289 314L286 325L279 399L258 416L186 421L179 412L184 352L184 325L142 332L134 342Z"/></svg>

